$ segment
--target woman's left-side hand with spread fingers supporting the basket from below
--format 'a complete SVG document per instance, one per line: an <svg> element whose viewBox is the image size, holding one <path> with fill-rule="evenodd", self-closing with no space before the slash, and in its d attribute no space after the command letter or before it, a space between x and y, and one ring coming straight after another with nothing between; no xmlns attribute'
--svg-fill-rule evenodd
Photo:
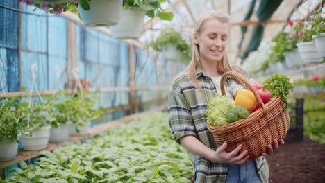
<svg viewBox="0 0 325 183"><path fill-rule="evenodd" d="M237 148L235 148L230 153L226 152L227 143L223 143L222 146L217 148L216 151L213 151L213 154L210 157L210 161L212 162L222 162L226 164L244 164L249 159L249 155L247 154L247 150L244 150L240 155L238 153L240 152L240 148L242 148L242 145L238 145Z"/></svg>

